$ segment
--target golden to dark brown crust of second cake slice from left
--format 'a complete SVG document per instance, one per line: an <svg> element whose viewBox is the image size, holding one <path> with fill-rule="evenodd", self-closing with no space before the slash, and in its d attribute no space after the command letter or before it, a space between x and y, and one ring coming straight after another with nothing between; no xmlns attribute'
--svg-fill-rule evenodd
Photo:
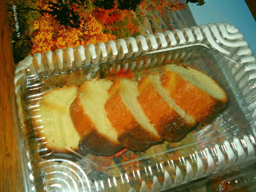
<svg viewBox="0 0 256 192"><path fill-rule="evenodd" d="M71 103L69 112L73 125L81 137L79 140L81 150L95 155L112 155L123 148L120 143L111 142L96 130L90 117L85 114L79 96L76 96Z"/></svg>

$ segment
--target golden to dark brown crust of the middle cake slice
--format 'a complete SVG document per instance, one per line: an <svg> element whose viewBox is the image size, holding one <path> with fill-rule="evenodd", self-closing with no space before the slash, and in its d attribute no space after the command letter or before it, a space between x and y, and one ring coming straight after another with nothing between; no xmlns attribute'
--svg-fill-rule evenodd
<svg viewBox="0 0 256 192"><path fill-rule="evenodd" d="M112 95L105 103L107 117L117 132L117 139L132 150L144 150L152 143L160 141L155 135L146 131L134 118L123 103L118 89L119 81L115 81L108 91ZM114 87L114 88L113 88Z"/></svg>

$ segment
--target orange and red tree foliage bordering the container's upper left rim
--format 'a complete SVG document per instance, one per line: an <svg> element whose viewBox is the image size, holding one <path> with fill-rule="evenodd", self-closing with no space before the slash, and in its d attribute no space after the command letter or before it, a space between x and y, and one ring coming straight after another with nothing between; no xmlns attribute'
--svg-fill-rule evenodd
<svg viewBox="0 0 256 192"><path fill-rule="evenodd" d="M60 24L57 16L49 12L52 1L51 4L48 1L37 1L42 14L33 23L34 31L30 39L32 54L139 34L138 21L131 11L118 9L116 4L111 9L93 7L90 3L86 4L86 9L80 4L71 4L69 8L79 15L79 26L71 27Z"/></svg>

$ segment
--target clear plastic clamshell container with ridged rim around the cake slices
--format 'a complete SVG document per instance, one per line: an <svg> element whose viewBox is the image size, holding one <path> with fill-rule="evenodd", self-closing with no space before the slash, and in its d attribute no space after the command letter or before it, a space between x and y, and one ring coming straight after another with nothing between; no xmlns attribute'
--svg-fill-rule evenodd
<svg viewBox="0 0 256 192"><path fill-rule="evenodd" d="M112 156L96 156L72 148L58 151L47 147L47 138L40 136L43 126L33 125L33 111L39 108L44 93L54 87L129 73L139 80L145 71L159 71L170 63L204 71L228 94L227 106L210 124L196 125L178 142L164 140L142 152L123 149ZM256 159L255 69L247 42L227 23L26 57L15 71L12 103L24 190L161 191L251 164ZM45 120L40 115L36 118Z"/></svg>

